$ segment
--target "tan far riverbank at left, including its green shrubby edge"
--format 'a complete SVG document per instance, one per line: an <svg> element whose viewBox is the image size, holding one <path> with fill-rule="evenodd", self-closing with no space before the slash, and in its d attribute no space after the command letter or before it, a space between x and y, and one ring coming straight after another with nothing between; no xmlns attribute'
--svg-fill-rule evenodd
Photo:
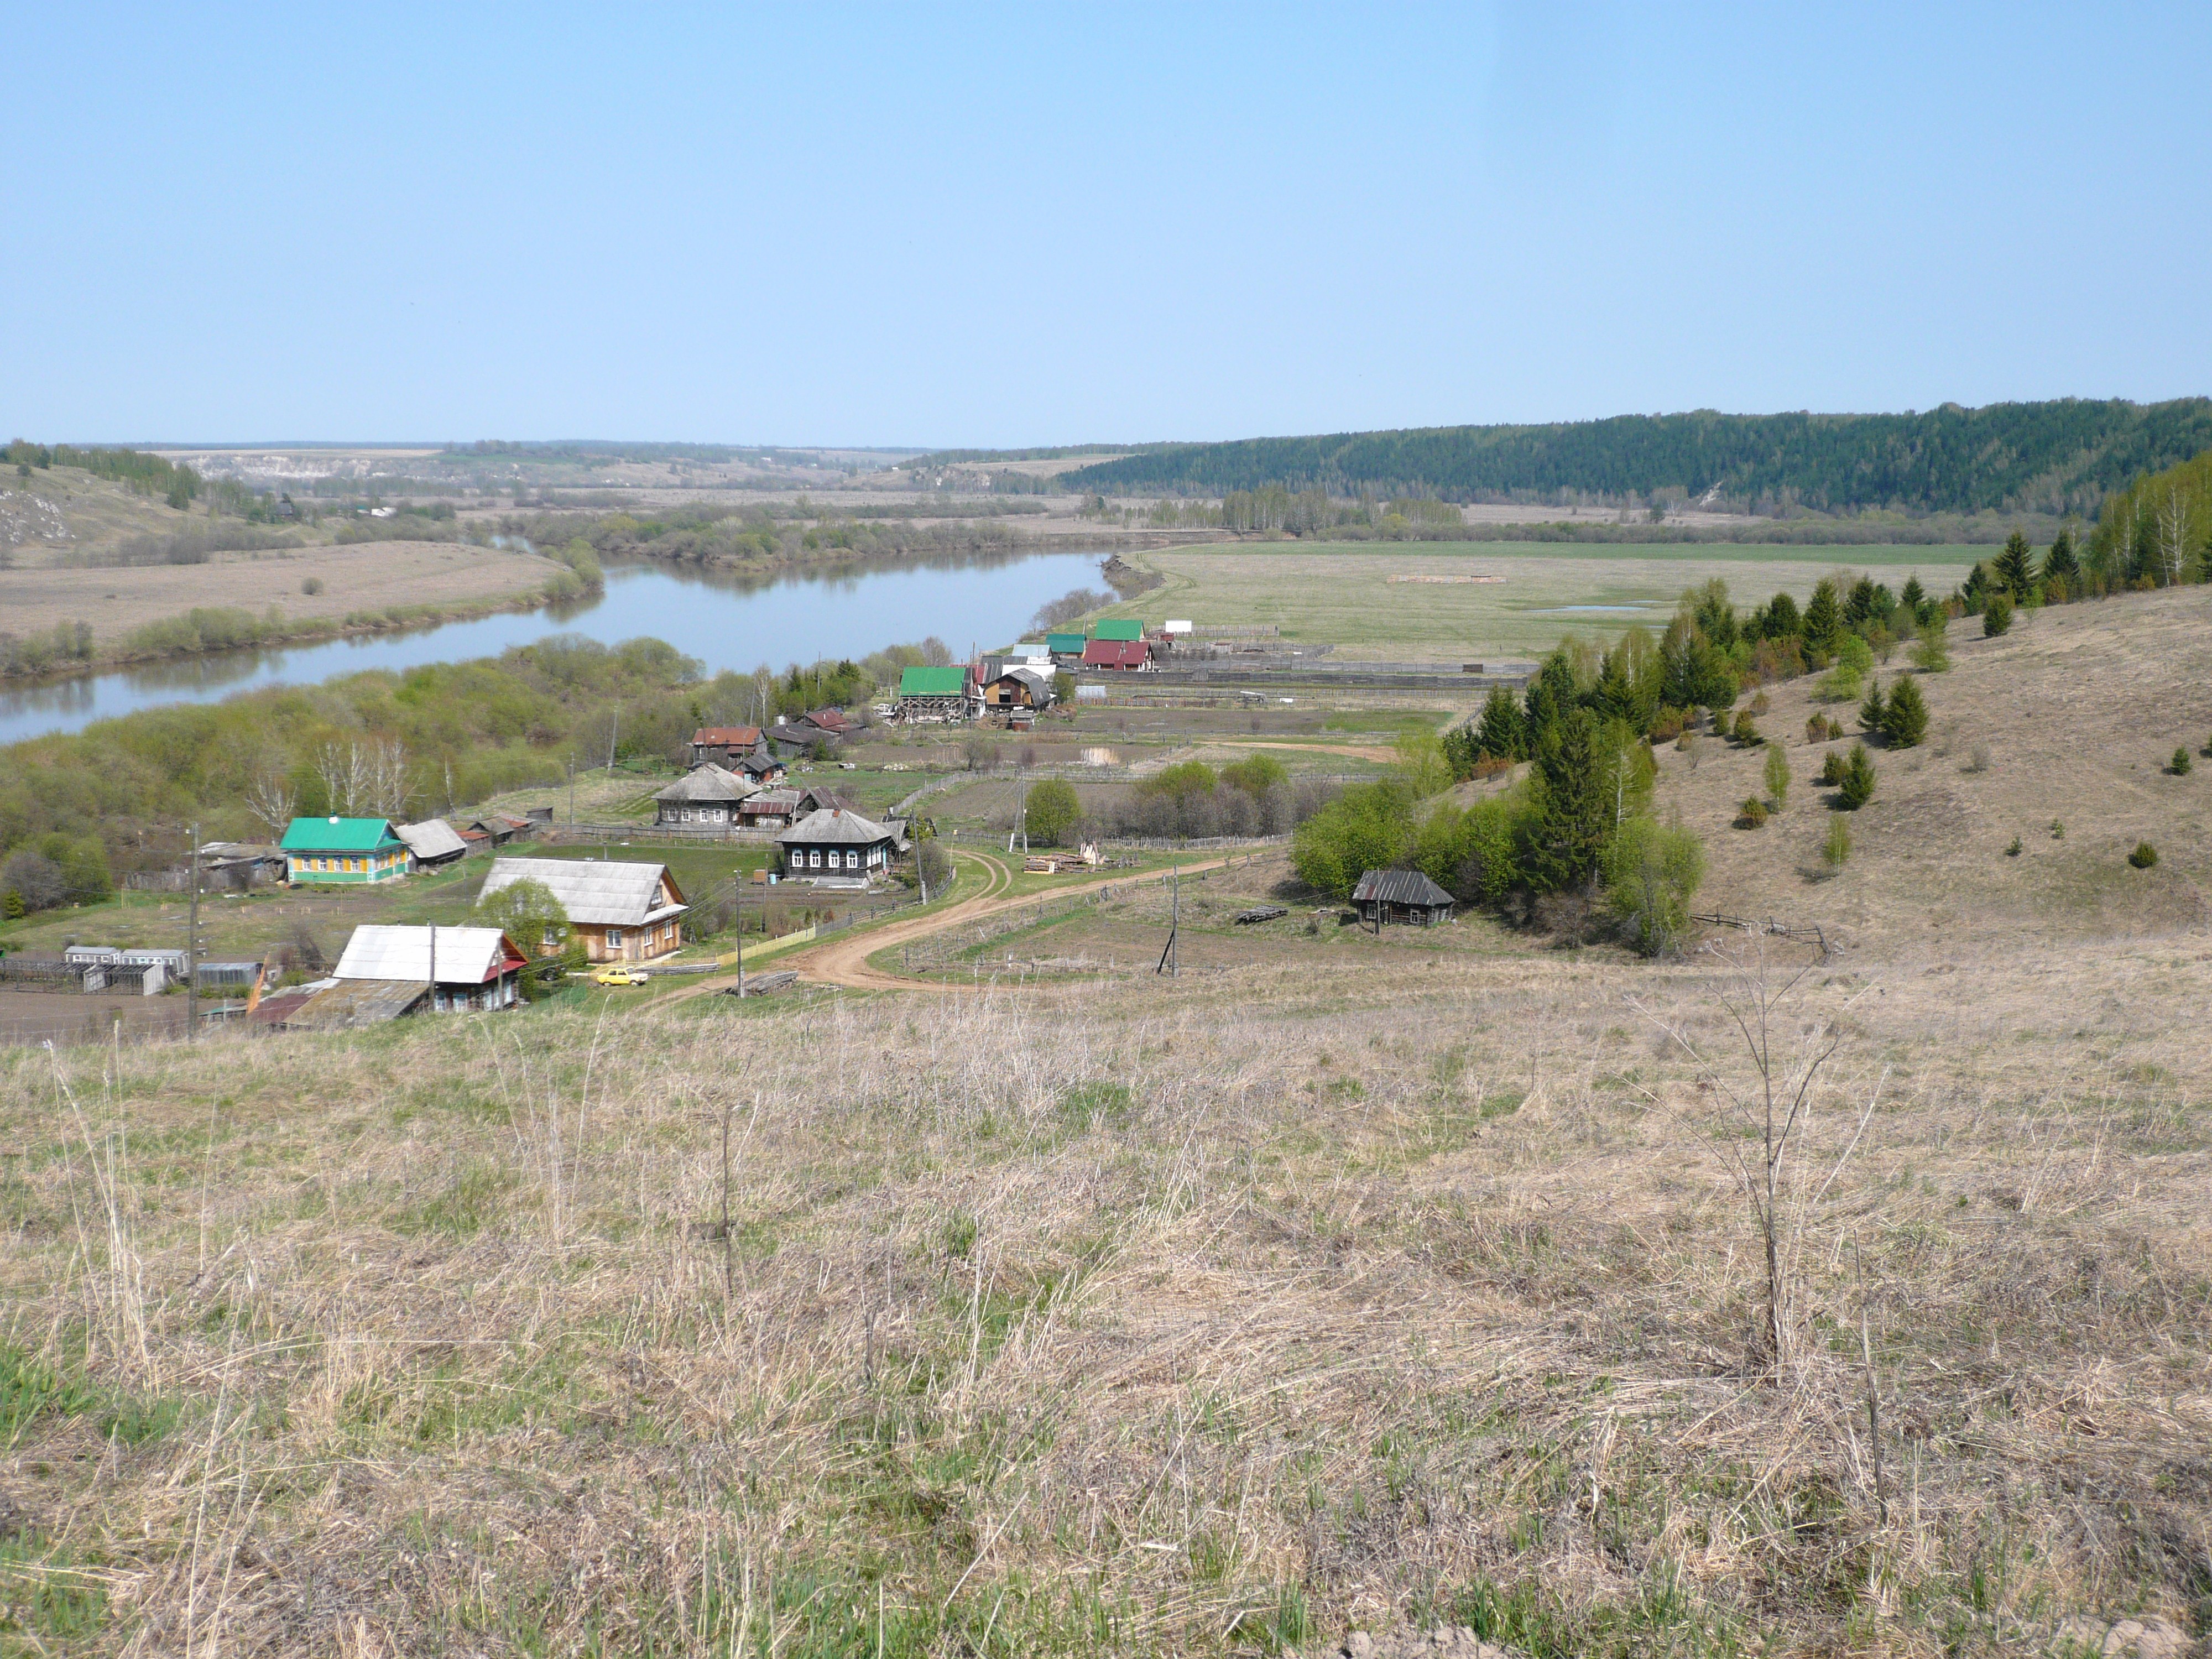
<svg viewBox="0 0 2212 1659"><path fill-rule="evenodd" d="M0 575L0 679L51 681L217 650L469 622L582 599L566 564L469 542L221 553L204 564Z"/></svg>

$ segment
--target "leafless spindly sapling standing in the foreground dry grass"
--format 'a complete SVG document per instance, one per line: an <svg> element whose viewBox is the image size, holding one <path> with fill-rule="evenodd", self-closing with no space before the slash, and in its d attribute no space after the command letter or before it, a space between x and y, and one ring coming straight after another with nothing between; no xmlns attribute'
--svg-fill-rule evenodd
<svg viewBox="0 0 2212 1659"><path fill-rule="evenodd" d="M1721 993L1721 1009L1743 1044L1745 1071L1730 1075L1719 1057L1699 1048L1679 1024L1655 1018L1641 1004L1635 1006L1692 1060L1699 1084L1719 1095L1719 1121L1710 1126L1690 1121L1690 1130L1734 1168L1736 1183L1743 1188L1743 1201L1765 1261L1763 1345L1767 1358L1781 1369L1790 1358L1792 1332L1796 1329L1792 1276L1805 1221L1858 1148L1889 1071L1885 1068L1869 1091L1858 1126L1838 1152L1827 1179L1805 1197L1796 1179L1796 1146L1809 1124L1820 1073L1843 1044L1834 1020L1794 1022L1787 1013L1790 1000L1805 975L1818 967L1818 960L1776 982L1763 931L1745 929L1743 945L1730 951L1710 949L1732 969L1732 984ZM1752 1150L1759 1152L1756 1159L1752 1159Z"/></svg>

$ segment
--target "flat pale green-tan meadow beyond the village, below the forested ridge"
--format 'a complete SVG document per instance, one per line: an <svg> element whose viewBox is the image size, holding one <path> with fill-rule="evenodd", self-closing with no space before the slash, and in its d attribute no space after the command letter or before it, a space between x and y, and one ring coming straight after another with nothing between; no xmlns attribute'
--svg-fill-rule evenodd
<svg viewBox="0 0 2212 1659"><path fill-rule="evenodd" d="M1801 604L1838 568L1891 591L1913 571L1931 593L1964 582L1986 546L1573 546L1498 542L1283 544L1135 553L1168 584L1104 615L1201 628L1272 622L1287 639L1338 646L1345 659L1482 661L1540 657L1566 635L1613 639L1663 628L1683 588L1728 582L1739 604L1787 591ZM1394 575L1500 575L1504 582L1391 582Z"/></svg>

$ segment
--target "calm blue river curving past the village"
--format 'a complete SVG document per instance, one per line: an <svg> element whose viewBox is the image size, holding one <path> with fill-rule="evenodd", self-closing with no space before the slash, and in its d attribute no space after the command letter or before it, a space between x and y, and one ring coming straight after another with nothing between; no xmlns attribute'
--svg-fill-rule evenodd
<svg viewBox="0 0 2212 1659"><path fill-rule="evenodd" d="M498 657L555 633L615 644L653 635L706 670L783 668L865 657L938 635L953 655L1004 646L1037 606L1099 586L1097 553L982 553L896 566L734 577L655 560L611 564L606 591L544 611L509 611L405 633L223 650L0 690L0 743L75 732L159 703L212 703L254 686L312 686L367 668Z"/></svg>

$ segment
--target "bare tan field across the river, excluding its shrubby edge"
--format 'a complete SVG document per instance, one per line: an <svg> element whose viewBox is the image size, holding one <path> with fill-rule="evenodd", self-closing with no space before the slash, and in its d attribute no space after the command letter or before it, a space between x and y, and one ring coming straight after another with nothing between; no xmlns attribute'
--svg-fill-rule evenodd
<svg viewBox="0 0 2212 1659"><path fill-rule="evenodd" d="M88 622L104 657L133 628L195 606L234 606L254 617L276 606L290 622L389 606L495 606L540 593L557 568L535 553L465 542L356 542L215 553L206 564L0 571L0 604L11 633ZM305 582L321 591L305 593Z"/></svg>

